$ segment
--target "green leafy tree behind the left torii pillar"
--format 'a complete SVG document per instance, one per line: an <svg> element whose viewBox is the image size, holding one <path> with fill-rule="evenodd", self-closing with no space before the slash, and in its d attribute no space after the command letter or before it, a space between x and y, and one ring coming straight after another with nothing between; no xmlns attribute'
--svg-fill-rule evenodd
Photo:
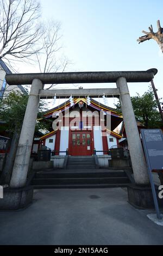
<svg viewBox="0 0 163 256"><path fill-rule="evenodd" d="M11 135L10 137L12 137L8 161L5 161L5 166L1 175L1 184L9 183L10 181L27 101L28 93L21 94L18 92L11 92L7 97L3 97L0 101L0 120L6 122L4 129L5 131L8 131ZM39 112L37 115L38 119L43 117L43 111L45 110L45 102L40 101ZM49 123L37 121L35 131L37 132L40 129L48 130Z"/></svg>

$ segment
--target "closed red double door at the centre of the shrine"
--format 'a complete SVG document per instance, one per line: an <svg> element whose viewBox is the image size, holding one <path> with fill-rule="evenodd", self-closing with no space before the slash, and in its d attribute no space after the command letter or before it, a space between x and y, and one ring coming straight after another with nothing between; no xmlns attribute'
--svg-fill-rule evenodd
<svg viewBox="0 0 163 256"><path fill-rule="evenodd" d="M71 155L72 156L92 155L91 131L71 132Z"/></svg>

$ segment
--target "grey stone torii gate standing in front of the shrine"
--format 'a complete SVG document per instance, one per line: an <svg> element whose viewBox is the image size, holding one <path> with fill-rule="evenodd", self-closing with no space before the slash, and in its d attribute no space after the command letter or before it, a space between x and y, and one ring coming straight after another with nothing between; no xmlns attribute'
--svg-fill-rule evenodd
<svg viewBox="0 0 163 256"><path fill-rule="evenodd" d="M32 202L33 187L26 187L28 165L33 144L35 123L37 118L39 99L41 97L60 97L68 95L95 97L98 95L121 95L122 114L128 139L131 163L136 185L149 185L146 161L143 154L139 132L137 130L135 115L129 95L127 82L150 82L157 73L156 69L147 71L111 71L111 72L63 72L44 74L10 74L5 79L9 85L32 84L24 115L20 140L10 186L4 191L4 199L0 200L0 209L23 208ZM43 84L67 83L116 83L117 88L112 89L56 89L43 90ZM135 193L135 192L134 192Z"/></svg>

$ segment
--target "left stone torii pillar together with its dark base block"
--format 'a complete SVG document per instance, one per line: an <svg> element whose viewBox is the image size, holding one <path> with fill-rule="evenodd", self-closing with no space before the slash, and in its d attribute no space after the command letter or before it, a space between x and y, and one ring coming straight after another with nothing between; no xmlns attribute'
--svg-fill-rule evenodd
<svg viewBox="0 0 163 256"><path fill-rule="evenodd" d="M0 200L1 210L25 208L32 202L33 186L26 187L28 166L32 150L35 124L39 108L39 90L43 84L39 79L32 81L26 113L24 115L20 139L9 189L4 189L4 199Z"/></svg>

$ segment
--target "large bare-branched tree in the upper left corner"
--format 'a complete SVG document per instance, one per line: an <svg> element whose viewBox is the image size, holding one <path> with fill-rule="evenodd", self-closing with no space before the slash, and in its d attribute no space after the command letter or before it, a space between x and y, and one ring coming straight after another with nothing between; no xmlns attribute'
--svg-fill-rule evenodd
<svg viewBox="0 0 163 256"><path fill-rule="evenodd" d="M40 3L35 0L1 0L0 58L9 66L12 60L29 58L40 51L42 36Z"/></svg>

